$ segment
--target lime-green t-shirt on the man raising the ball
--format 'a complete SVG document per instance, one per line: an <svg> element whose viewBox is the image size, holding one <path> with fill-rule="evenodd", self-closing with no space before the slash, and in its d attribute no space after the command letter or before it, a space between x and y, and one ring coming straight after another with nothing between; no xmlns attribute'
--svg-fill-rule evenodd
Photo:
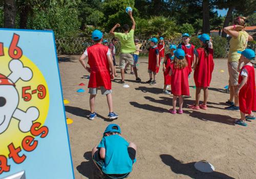
<svg viewBox="0 0 256 179"><path fill-rule="evenodd" d="M119 38L121 42L121 53L131 54L136 52L136 47L134 43L134 30L132 29L129 33L118 33L115 32L115 37Z"/></svg>

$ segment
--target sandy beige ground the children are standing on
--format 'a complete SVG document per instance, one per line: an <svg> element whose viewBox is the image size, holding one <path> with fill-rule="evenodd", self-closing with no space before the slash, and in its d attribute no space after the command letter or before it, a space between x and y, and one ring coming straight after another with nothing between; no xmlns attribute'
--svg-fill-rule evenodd
<svg viewBox="0 0 256 179"><path fill-rule="evenodd" d="M139 76L147 81L147 58L139 61ZM100 142L102 132L110 123L120 125L122 136L137 144L137 163L129 178L255 178L256 121L248 121L247 127L234 125L234 120L240 118L239 111L224 110L229 97L222 90L228 81L226 62L226 59L215 59L207 110L186 108L195 100L195 89L190 87L191 97L184 100L184 114L172 115L168 113L172 96L161 93L162 72L154 86L135 83L135 76L127 74L129 88L112 83L114 111L119 118L114 121L107 118L106 97L99 94L98 118L90 121L86 117L90 113L89 79L84 77L89 74L80 65L78 56L60 56L63 97L70 101L66 114L74 121L68 129L75 178L98 178L91 149ZM86 86L78 86L81 82ZM189 85L194 86L193 76ZM86 93L77 93L79 88L86 89ZM216 172L197 171L194 164L200 160L209 161Z"/></svg>

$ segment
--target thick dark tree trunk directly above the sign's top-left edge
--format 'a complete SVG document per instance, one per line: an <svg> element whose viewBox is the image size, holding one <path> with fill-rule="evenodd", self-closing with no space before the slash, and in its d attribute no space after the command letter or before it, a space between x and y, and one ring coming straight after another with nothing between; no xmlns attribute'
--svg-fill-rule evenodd
<svg viewBox="0 0 256 179"><path fill-rule="evenodd" d="M4 28L15 28L16 4L14 0L4 1Z"/></svg>

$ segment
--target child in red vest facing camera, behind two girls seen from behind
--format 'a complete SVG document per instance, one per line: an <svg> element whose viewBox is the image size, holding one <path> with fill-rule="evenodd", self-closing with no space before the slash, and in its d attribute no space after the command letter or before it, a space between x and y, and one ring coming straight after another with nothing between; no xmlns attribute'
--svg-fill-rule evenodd
<svg viewBox="0 0 256 179"><path fill-rule="evenodd" d="M184 50L186 54L188 73L192 72L192 66L195 61L195 46L193 44L189 44L190 36L188 33L182 34L182 43L179 44L178 49Z"/></svg>

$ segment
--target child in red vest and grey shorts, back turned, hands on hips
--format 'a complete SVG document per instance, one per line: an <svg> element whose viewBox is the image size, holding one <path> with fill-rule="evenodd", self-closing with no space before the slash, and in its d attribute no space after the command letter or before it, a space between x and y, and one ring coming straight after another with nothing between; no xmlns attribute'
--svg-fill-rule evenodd
<svg viewBox="0 0 256 179"><path fill-rule="evenodd" d="M86 49L86 51L79 58L82 66L90 73L90 80L88 84L90 93L90 120L94 120L97 116L94 110L95 97L98 89L100 88L101 94L106 95L109 105L109 118L117 119L118 115L113 112L113 102L112 102L112 90L111 90L111 79L114 79L114 65L111 57L111 52L108 46L103 46L102 42L102 32L99 30L94 30L92 33L92 40L94 45ZM85 59L88 57L88 64L90 68L87 67ZM110 69L111 72L110 73Z"/></svg>

